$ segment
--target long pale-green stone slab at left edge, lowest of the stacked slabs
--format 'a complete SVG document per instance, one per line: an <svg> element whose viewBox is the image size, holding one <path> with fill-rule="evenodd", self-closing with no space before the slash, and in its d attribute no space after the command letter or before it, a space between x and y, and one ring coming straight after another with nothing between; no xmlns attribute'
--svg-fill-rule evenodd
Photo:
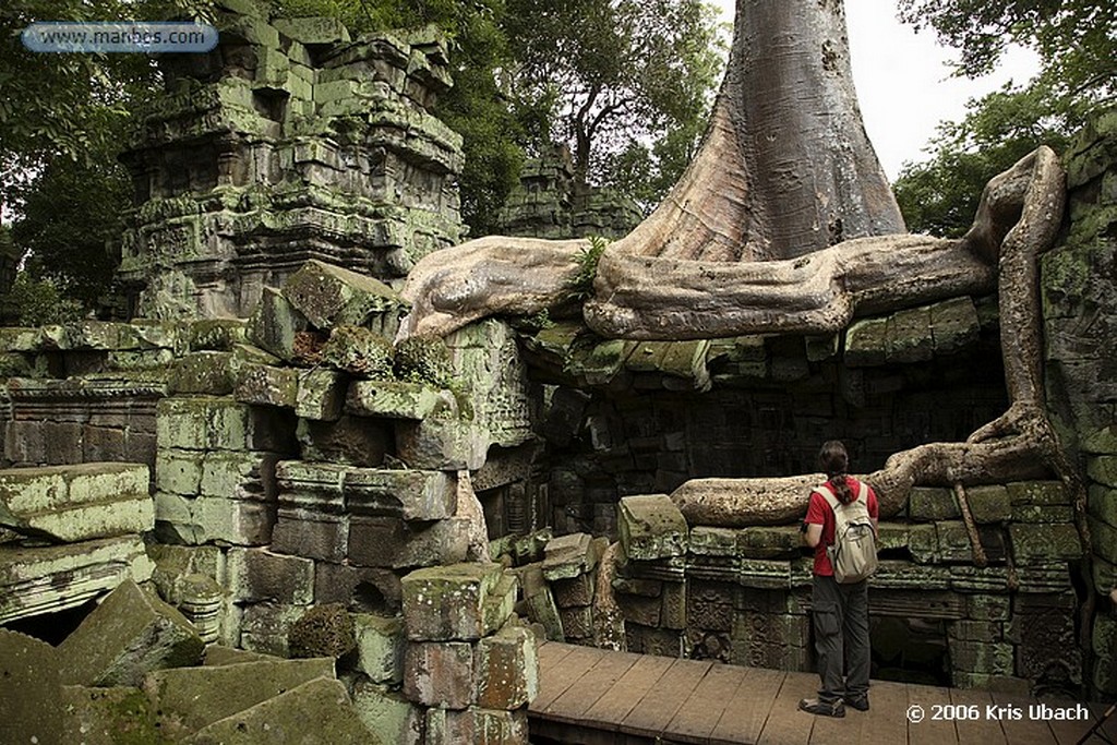
<svg viewBox="0 0 1117 745"><path fill-rule="evenodd" d="M0 623L76 608L124 580L147 581L154 567L139 536L39 548L0 545Z"/></svg>

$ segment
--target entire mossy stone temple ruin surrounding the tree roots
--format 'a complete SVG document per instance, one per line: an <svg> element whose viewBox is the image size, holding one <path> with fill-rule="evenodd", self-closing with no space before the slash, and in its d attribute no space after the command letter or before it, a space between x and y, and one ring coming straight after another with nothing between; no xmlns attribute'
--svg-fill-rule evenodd
<svg viewBox="0 0 1117 745"><path fill-rule="evenodd" d="M130 319L0 329L0 742L526 743L537 638L812 669L798 522L708 525L688 490L810 474L831 434L863 472L965 440L1009 404L997 298L393 344L402 278L461 237L445 47L221 22L125 155ZM1041 267L1086 503L1042 464L917 484L881 523L875 678L1117 695L1115 153L1110 112L1063 155Z"/></svg>

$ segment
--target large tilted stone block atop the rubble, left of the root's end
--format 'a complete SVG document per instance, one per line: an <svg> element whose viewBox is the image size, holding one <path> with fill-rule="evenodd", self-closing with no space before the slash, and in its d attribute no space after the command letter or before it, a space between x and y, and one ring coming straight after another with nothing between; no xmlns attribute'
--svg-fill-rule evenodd
<svg viewBox="0 0 1117 745"><path fill-rule="evenodd" d="M372 313L404 305L395 290L382 281L313 259L287 278L283 295L292 307L323 329L360 326Z"/></svg>

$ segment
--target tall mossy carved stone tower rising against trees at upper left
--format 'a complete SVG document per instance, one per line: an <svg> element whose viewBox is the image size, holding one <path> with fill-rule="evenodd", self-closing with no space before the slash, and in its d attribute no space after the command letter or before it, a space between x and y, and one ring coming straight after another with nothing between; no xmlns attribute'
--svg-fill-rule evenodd
<svg viewBox="0 0 1117 745"><path fill-rule="evenodd" d="M132 316L246 317L307 259L390 281L460 239L461 139L430 114L451 85L437 31L351 39L218 4L218 47L160 58L166 95L121 156Z"/></svg>

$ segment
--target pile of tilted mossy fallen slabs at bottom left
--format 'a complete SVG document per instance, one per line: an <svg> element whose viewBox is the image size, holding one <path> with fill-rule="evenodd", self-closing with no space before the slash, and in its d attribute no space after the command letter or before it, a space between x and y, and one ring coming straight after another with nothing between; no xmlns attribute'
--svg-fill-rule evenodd
<svg viewBox="0 0 1117 745"><path fill-rule="evenodd" d="M57 648L0 630L0 697L4 743L391 742L361 722L332 658L206 649L184 617L131 581Z"/></svg>

